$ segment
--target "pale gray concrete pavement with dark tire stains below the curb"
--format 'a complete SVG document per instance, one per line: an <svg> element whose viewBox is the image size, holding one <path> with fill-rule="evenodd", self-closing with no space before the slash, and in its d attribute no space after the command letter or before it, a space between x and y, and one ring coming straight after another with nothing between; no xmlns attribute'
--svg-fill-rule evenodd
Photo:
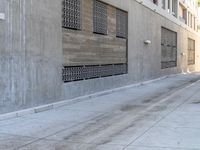
<svg viewBox="0 0 200 150"><path fill-rule="evenodd" d="M0 121L0 150L200 150L200 74Z"/></svg>

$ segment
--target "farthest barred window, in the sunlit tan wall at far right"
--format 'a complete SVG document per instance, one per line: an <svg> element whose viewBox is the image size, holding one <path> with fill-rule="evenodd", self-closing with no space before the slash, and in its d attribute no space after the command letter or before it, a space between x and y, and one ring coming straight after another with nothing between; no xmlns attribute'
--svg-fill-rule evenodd
<svg viewBox="0 0 200 150"><path fill-rule="evenodd" d="M188 39L188 65L195 64L195 41Z"/></svg>

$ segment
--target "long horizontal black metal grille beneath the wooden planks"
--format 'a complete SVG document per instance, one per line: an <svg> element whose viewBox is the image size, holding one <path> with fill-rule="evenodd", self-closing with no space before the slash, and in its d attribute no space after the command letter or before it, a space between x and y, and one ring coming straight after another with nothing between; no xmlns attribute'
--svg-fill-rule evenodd
<svg viewBox="0 0 200 150"><path fill-rule="evenodd" d="M127 64L65 66L62 70L64 82L87 80L127 73Z"/></svg>

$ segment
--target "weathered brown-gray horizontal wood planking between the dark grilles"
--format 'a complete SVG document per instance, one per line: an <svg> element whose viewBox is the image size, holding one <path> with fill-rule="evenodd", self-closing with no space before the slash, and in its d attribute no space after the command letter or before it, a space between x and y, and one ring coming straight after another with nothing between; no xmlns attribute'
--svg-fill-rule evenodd
<svg viewBox="0 0 200 150"><path fill-rule="evenodd" d="M81 30L63 28L64 66L127 62L127 40L116 37L116 8L107 6L107 35L93 33L93 0L81 3Z"/></svg>

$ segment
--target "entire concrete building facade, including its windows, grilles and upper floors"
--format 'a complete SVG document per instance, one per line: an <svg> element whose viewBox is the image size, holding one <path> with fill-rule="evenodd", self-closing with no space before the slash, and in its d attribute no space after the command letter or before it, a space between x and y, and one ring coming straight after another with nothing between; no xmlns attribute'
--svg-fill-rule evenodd
<svg viewBox="0 0 200 150"><path fill-rule="evenodd" d="M0 114L199 71L197 18L192 0L1 0Z"/></svg>

